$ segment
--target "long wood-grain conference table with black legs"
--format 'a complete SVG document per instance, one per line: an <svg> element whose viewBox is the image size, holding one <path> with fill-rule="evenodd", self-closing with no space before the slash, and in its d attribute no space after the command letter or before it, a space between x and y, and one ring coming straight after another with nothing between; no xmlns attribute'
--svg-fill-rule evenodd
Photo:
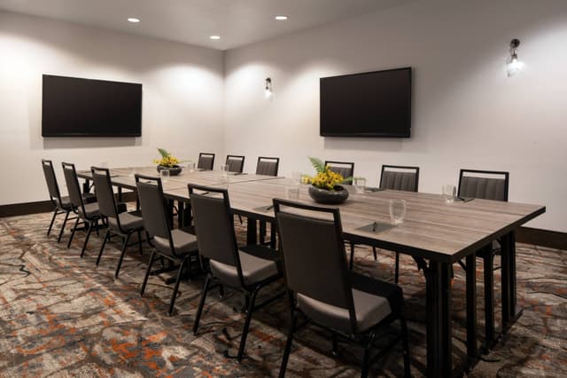
<svg viewBox="0 0 567 378"><path fill-rule="evenodd" d="M136 173L157 176L155 168L136 168ZM133 169L111 169L113 185L136 190ZM87 180L90 172L79 172ZM227 182L228 181L228 182ZM177 201L180 214L183 203L189 203L188 184L224 187L229 191L232 211L252 219L248 222L248 241L256 240L257 219L274 221L272 199L285 198L286 188L299 186L299 202L315 203L308 195L308 185L298 185L290 178L261 175L229 174L220 171L185 172L169 177L163 184L164 195ZM338 205L346 240L384 248L412 256L423 271L426 290L427 375L454 376L478 361L476 264L477 253L491 248L493 240L501 245L501 333L506 333L521 311L517 310L516 240L517 228L546 211L544 206L505 201L454 201L431 193L392 190L356 193L346 185L348 200ZM407 202L402 224L390 226L389 203L392 199ZM186 221L180 217L180 221ZM380 227L372 227L371 224ZM385 227L382 227L385 225ZM377 232L373 229L377 228ZM452 266L464 259L467 299L467 359L454 364L452 347L451 278ZM485 298L485 338L495 340L493 296ZM455 365L455 366L454 366Z"/></svg>

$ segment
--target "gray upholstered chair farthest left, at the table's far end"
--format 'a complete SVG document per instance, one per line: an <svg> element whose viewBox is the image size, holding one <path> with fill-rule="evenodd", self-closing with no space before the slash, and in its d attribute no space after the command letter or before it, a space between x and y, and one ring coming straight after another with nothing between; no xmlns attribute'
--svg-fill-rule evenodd
<svg viewBox="0 0 567 378"><path fill-rule="evenodd" d="M53 162L50 160L42 159L43 176L45 177L45 183L47 184L47 190L50 195L50 201L55 207L53 211L53 217L51 217L50 226L47 229L47 236L50 235L51 228L55 222L55 218L60 214L65 214L65 219L61 225L61 230L57 238L57 242L61 241L63 232L65 231L65 225L67 220L73 220L74 217L69 219L69 214L73 212L73 204L68 196L62 197L59 190L59 185L57 183L57 177L55 176L55 169L53 169ZM96 202L97 197L93 193L83 193L83 200L87 203Z"/></svg>

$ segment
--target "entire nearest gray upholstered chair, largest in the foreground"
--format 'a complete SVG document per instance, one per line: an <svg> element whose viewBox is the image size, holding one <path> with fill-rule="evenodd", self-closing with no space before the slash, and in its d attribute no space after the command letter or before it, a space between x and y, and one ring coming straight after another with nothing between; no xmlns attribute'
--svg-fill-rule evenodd
<svg viewBox="0 0 567 378"><path fill-rule="evenodd" d="M347 269L339 209L276 199L274 209L291 309L280 377L285 374L299 313L333 333L335 354L337 335L361 343L363 377L369 374L370 360L383 355L380 352L370 358L379 329L400 320L400 334L384 350L402 341L405 374L409 376L408 329L401 314L401 287Z"/></svg>

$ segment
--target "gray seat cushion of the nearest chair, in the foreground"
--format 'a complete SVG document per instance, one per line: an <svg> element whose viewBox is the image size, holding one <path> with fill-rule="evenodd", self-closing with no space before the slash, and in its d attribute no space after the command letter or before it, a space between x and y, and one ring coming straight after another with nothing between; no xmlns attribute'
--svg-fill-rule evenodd
<svg viewBox="0 0 567 378"><path fill-rule="evenodd" d="M403 293L397 285L354 272L351 272L351 284L357 332L367 331L392 313L400 311ZM346 334L353 332L348 309L300 293L297 298L299 309L315 322Z"/></svg>

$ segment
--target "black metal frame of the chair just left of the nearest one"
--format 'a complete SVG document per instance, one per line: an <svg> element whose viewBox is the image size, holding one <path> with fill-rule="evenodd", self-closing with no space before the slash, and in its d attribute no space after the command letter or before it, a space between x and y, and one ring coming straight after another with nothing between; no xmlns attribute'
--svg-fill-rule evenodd
<svg viewBox="0 0 567 378"><path fill-rule="evenodd" d="M252 285L246 285L245 280L244 280L244 275L242 273L242 267L240 265L240 257L238 256L237 239L236 239L236 235L235 235L235 232L234 232L234 217L232 217L232 213L230 211L229 192L226 189L219 189L219 188L214 188L214 187L210 187L210 186L192 185L192 184L188 185L188 189L189 189L189 195L190 195L191 199L198 197L198 196L205 196L209 193L221 194L222 199L224 201L225 209L227 209L226 216L229 218L229 222L232 225L232 228L231 228L232 232L230 232L230 235L228 235L228 236L231 239L230 242L234 244L234 250L236 251L235 261L236 261L236 264L237 264L237 274L238 274L238 281L239 281L239 286L238 287L235 286L235 287L232 287L232 288L241 291L245 295L245 307L246 307L245 325L244 325L244 328L243 328L243 331L242 331L242 336L241 336L241 339L240 339L240 345L238 347L238 353L237 353L237 356L236 356L237 361L241 362L242 358L244 357L244 353L245 353L246 337L248 336L248 331L250 329L250 322L252 320L252 313L254 311L259 310L262 307L266 306L268 303L272 303L272 302L276 301L278 298L281 298L285 294L284 292L281 292L281 293L278 293L278 294L273 295L271 297L268 297L268 299L266 299L262 303L255 303L258 292L260 291L261 288L267 287L272 282L281 279L282 275L279 274L279 275L270 277L266 280L261 280L260 282L256 282ZM196 190L200 193L195 192ZM195 208L193 208L193 209L195 209ZM198 231L198 224L196 224L196 226L197 226L197 231ZM197 332L198 332L198 324L199 324L199 321L201 319L203 307L205 305L207 292L214 287L219 287L221 297L224 295L224 284L220 280L218 280L216 277L214 277L214 274L210 270L210 266L208 266L208 264L206 264L206 258L201 256L200 254L199 254L199 257L200 257L201 267L206 272L206 280L205 280L205 285L203 286L203 290L201 292L200 301L198 303L198 310L197 310L197 314L195 315L195 322L193 323L193 335L197 335ZM225 351L224 356L226 358L235 358L235 356L229 355L228 350Z"/></svg>

